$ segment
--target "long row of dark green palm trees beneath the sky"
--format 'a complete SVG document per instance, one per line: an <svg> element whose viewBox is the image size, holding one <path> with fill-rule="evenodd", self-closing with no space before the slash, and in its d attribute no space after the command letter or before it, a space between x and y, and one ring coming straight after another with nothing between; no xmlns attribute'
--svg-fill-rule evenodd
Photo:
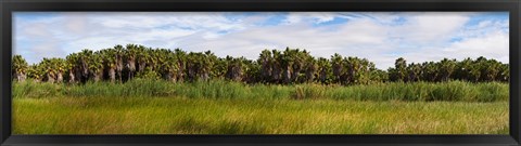
<svg viewBox="0 0 521 146"><path fill-rule="evenodd" d="M28 65L21 55L12 61L13 80L30 78L40 82L85 83L126 82L134 78L156 78L171 82L227 79L245 83L340 83L442 82L461 80L491 82L509 80L509 65L483 56L463 61L410 63L397 58L387 70L378 69L366 58L333 54L314 57L306 50L264 50L256 61L244 57L217 57L213 52L186 52L180 49L152 49L143 45L116 45L100 51L82 50L65 58L43 58Z"/></svg>

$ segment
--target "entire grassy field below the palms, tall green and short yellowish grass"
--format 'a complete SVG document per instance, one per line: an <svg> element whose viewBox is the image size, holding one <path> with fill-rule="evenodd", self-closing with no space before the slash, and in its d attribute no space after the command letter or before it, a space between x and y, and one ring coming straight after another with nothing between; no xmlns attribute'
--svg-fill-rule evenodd
<svg viewBox="0 0 521 146"><path fill-rule="evenodd" d="M505 83L13 88L14 134L508 134L508 117Z"/></svg>

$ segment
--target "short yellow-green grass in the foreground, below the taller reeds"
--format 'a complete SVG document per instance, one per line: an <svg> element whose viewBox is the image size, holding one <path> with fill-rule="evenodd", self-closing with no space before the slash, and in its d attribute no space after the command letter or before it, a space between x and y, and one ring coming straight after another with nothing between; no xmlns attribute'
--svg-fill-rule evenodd
<svg viewBox="0 0 521 146"><path fill-rule="evenodd" d="M508 102L13 99L14 134L508 134Z"/></svg>

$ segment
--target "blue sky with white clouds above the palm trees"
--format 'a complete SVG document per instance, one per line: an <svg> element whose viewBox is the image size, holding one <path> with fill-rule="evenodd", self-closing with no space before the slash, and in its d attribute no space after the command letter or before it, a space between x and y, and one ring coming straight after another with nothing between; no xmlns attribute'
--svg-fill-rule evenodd
<svg viewBox="0 0 521 146"><path fill-rule="evenodd" d="M13 54L29 64L116 44L256 59L262 50L365 57L378 68L485 56L508 63L508 12L15 12Z"/></svg>

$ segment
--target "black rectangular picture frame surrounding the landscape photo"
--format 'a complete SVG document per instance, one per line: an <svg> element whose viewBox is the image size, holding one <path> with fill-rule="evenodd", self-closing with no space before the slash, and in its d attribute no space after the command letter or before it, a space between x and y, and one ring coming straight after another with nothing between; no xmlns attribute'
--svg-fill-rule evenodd
<svg viewBox="0 0 521 146"><path fill-rule="evenodd" d="M13 145L519 145L519 76L510 77L510 135L12 135L12 12L508 11L510 75L520 75L520 0L3 0L0 1L0 144Z"/></svg>

